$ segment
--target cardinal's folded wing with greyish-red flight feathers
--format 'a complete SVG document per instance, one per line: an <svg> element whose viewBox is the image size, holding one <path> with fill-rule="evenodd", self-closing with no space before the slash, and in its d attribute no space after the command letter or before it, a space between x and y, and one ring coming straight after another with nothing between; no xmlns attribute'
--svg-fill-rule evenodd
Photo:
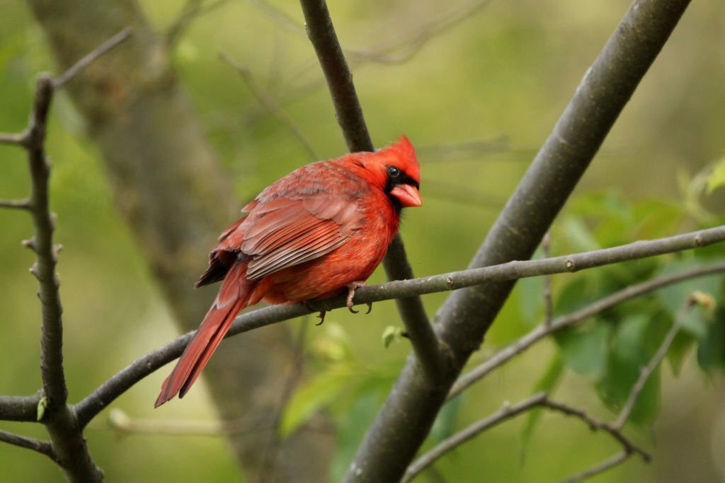
<svg viewBox="0 0 725 483"><path fill-rule="evenodd" d="M245 207L249 216L239 230L225 234L218 248L236 248L251 258L249 280L318 259L347 242L363 224L355 199L339 194L258 199Z"/></svg>

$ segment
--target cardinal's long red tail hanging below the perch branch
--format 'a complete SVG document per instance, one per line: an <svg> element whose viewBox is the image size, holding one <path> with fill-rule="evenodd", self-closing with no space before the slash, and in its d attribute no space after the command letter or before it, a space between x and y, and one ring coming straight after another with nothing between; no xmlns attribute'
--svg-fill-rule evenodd
<svg viewBox="0 0 725 483"><path fill-rule="evenodd" d="M173 399L177 394L179 398L183 398L202 373L239 311L247 306L254 283L247 280L246 272L247 261L237 261L231 266L212 308L186 346L174 370L161 385L154 408Z"/></svg>

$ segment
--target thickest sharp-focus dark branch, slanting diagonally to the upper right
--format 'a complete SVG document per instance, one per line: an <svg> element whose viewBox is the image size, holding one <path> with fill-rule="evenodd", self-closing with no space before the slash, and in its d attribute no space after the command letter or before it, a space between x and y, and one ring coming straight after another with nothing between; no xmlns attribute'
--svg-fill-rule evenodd
<svg viewBox="0 0 725 483"><path fill-rule="evenodd" d="M471 261L472 268L531 257L688 4L689 0L634 2L587 70ZM431 385L408 359L350 465L347 482L397 482L403 476L458 372L481 345L513 285L486 283L452 293L436 316L436 332L454 355L452 373Z"/></svg>

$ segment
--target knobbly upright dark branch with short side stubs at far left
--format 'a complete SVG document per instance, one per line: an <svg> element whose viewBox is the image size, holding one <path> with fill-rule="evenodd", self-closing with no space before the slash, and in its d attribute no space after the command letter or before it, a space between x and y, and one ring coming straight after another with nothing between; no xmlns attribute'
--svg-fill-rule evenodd
<svg viewBox="0 0 725 483"><path fill-rule="evenodd" d="M24 242L25 246L36 253L37 261L30 272L38 280L38 298L41 301L41 379L43 395L41 398L3 398L0 403L7 404L12 411L9 416L16 419L30 416L31 404L35 403L36 417L46 427L51 443L41 443L25 437L3 433L7 442L31 448L49 455L65 471L68 479L78 482L95 482L103 479L103 472L94 463L88 452L86 440L78 428L75 415L67 406L68 390L63 369L63 308L60 302L59 281L55 272L60 245L53 243L55 216L51 214L49 203L50 164L46 159L45 139L48 113L57 88L78 75L85 67L118 43L128 38L130 31L125 30L73 64L62 75L53 79L50 75L41 75L36 83L36 95L33 112L26 130L20 135L5 136L14 140L28 152L30 170L30 199L14 203L15 208L30 211L35 225L35 235ZM5 206L9 207L13 203Z"/></svg>

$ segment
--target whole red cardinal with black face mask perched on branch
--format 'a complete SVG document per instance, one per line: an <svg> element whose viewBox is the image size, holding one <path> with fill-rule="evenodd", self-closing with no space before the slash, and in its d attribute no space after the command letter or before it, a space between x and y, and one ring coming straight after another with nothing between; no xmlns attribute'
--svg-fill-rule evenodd
<svg viewBox="0 0 725 483"><path fill-rule="evenodd" d="M244 206L247 217L219 237L196 287L222 280L199 330L164 381L158 407L182 398L242 308L290 303L355 288L380 264L400 210L421 206L418 159L405 136L375 153L307 164Z"/></svg>

